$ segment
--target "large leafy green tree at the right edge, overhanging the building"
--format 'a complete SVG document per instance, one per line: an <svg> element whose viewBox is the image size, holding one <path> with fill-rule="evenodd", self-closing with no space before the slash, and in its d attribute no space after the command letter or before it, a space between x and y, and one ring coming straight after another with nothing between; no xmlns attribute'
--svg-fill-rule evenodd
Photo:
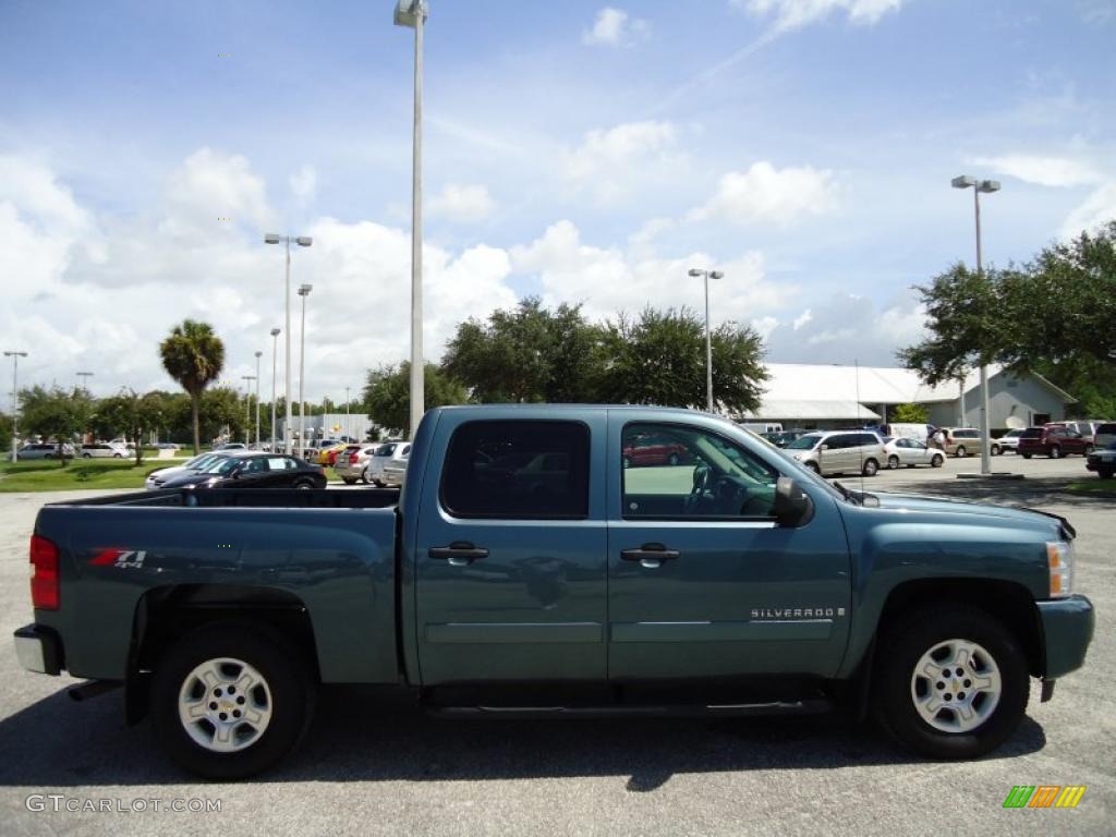
<svg viewBox="0 0 1116 837"><path fill-rule="evenodd" d="M1023 267L978 275L955 264L917 290L931 334L898 357L931 384L982 363L1116 372L1116 221Z"/></svg>

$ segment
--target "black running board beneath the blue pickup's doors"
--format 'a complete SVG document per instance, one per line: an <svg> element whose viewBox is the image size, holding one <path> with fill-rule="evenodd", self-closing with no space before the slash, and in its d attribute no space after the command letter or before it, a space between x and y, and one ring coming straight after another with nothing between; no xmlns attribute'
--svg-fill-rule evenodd
<svg viewBox="0 0 1116 837"><path fill-rule="evenodd" d="M764 715L817 715L831 712L824 698L767 703L720 703L712 705L605 705L605 706L426 706L435 718L748 718Z"/></svg>

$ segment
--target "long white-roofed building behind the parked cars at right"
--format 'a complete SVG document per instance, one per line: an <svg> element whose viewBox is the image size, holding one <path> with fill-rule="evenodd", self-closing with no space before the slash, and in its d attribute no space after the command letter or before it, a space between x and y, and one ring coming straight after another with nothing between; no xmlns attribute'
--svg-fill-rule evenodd
<svg viewBox="0 0 1116 837"><path fill-rule="evenodd" d="M899 404L921 404L939 426L975 427L980 386L975 371L964 381L927 386L910 369L838 364L767 364L770 375L759 410L741 422L779 423L786 430L830 430L886 424ZM1006 430L1009 419L1033 426L1066 417L1076 398L1041 375L1013 376L989 366L989 426ZM1014 424L1016 422L1012 422Z"/></svg>

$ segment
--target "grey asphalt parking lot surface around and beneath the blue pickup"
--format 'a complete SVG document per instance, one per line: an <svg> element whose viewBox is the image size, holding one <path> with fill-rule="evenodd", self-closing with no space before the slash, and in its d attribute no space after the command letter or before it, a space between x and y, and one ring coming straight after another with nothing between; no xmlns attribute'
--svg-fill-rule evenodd
<svg viewBox="0 0 1116 837"><path fill-rule="evenodd" d="M74 703L73 681L25 673L0 638L3 834L1113 834L1116 821L1116 499L1061 491L1080 458L993 460L1021 481L959 480L979 461L901 469L867 490L1031 506L1078 531L1075 586L1094 602L1086 667L1031 705L1016 737L975 762L912 758L840 718L749 722L450 722L408 700L330 689L308 741L277 771L204 783L128 728L121 695ZM1095 478L1094 478L1095 479ZM859 478L846 480L858 488ZM75 494L76 496L76 494ZM69 497L67 494L66 497ZM0 494L0 633L27 623L27 536L60 494ZM1085 785L1079 806L1003 809L1016 785ZM112 800L143 811L55 812L38 797ZM220 800L220 812L156 812L147 800ZM98 802L99 804L99 802ZM65 801L62 802L65 806ZM1107 824L1107 825L1106 825Z"/></svg>

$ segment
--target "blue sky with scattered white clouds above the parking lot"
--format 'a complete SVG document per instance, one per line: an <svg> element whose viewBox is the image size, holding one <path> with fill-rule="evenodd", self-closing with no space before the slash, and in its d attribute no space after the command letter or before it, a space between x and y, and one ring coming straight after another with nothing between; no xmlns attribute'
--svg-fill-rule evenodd
<svg viewBox="0 0 1116 837"><path fill-rule="evenodd" d="M525 294L698 307L685 270L709 266L713 319L754 324L769 359L886 365L921 333L910 287L972 258L953 175L1003 183L993 263L1116 217L1112 0L430 4L435 359ZM154 347L185 316L252 373L281 325L271 230L315 235L294 257L309 397L402 359L412 37L391 13L0 3L0 327L26 381L170 388Z"/></svg>

